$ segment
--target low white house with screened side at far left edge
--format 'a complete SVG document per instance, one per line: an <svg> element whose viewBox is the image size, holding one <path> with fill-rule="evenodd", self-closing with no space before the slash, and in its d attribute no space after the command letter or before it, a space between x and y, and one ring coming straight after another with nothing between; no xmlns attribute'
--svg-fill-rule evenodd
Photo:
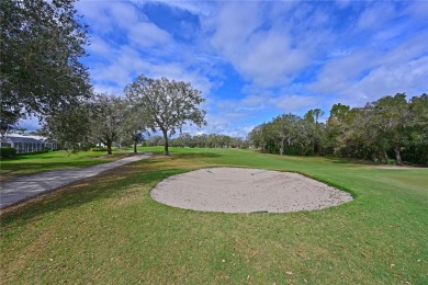
<svg viewBox="0 0 428 285"><path fill-rule="evenodd" d="M45 148L55 150L58 148L56 140L49 140L42 136L26 136L19 134L9 134L1 137L0 146L15 148L16 153L43 151Z"/></svg>

